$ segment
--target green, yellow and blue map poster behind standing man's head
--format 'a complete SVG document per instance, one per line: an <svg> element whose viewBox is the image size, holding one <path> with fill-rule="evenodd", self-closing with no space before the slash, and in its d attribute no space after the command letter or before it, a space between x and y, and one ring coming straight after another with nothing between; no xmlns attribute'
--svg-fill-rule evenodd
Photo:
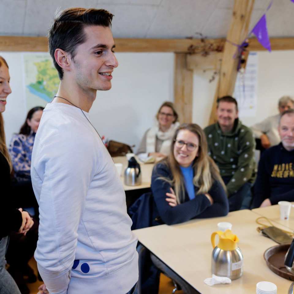
<svg viewBox="0 0 294 294"><path fill-rule="evenodd" d="M59 86L58 72L49 53L23 53L27 110L45 107Z"/></svg>

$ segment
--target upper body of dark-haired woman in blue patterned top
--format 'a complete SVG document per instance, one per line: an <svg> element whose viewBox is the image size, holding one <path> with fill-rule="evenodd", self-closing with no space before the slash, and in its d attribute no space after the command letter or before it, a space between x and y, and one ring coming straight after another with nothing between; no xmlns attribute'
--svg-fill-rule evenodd
<svg viewBox="0 0 294 294"><path fill-rule="evenodd" d="M28 112L19 134L14 134L11 139L9 153L13 164L14 175L18 182L31 181L32 150L43 109L41 106L32 108Z"/></svg>

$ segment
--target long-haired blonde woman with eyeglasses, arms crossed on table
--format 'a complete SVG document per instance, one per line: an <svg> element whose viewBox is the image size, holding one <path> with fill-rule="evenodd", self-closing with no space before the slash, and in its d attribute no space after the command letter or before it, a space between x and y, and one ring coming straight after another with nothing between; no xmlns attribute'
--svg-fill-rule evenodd
<svg viewBox="0 0 294 294"><path fill-rule="evenodd" d="M192 123L179 126L170 149L168 157L153 168L151 179L161 221L170 225L227 215L226 188L217 165L207 154L201 127Z"/></svg>

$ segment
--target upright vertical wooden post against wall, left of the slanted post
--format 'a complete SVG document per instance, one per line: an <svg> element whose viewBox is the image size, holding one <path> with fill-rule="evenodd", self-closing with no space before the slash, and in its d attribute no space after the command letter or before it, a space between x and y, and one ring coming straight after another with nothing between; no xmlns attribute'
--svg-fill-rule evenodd
<svg viewBox="0 0 294 294"><path fill-rule="evenodd" d="M174 103L180 123L192 122L193 70L187 69L185 53L175 53Z"/></svg>

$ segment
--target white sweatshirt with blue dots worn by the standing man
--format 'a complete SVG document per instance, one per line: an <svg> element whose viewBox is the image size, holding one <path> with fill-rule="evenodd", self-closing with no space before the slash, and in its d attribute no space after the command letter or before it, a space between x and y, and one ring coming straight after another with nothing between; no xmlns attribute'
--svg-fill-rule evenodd
<svg viewBox="0 0 294 294"><path fill-rule="evenodd" d="M138 254L125 192L79 108L47 104L31 176L40 205L35 258L50 294L127 293L138 280Z"/></svg>

